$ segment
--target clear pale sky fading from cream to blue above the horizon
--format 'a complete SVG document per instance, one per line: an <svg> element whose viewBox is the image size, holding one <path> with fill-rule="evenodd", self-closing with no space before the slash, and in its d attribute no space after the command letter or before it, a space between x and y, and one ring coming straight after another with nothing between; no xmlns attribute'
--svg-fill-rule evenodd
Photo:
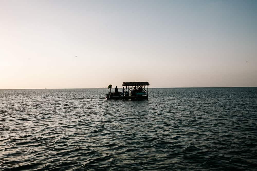
<svg viewBox="0 0 257 171"><path fill-rule="evenodd" d="M0 0L0 89L256 87L256 66L254 0Z"/></svg>

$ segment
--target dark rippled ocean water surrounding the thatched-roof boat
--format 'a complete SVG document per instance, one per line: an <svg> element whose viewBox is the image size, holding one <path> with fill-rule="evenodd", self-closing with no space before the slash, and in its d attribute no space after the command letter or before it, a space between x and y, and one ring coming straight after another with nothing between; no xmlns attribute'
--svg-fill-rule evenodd
<svg viewBox="0 0 257 171"><path fill-rule="evenodd" d="M257 170L257 88L0 90L0 170Z"/></svg>

